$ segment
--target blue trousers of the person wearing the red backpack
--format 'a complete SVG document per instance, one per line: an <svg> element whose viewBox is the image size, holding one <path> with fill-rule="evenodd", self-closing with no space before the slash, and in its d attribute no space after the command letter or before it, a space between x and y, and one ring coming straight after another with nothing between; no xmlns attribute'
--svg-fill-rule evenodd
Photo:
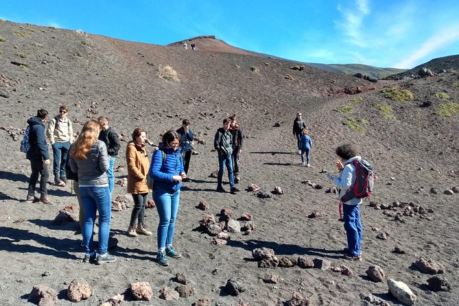
<svg viewBox="0 0 459 306"><path fill-rule="evenodd" d="M362 222L360 222L359 205L342 205L344 217L344 229L347 235L347 246L353 256L362 254L360 244L362 243Z"/></svg>

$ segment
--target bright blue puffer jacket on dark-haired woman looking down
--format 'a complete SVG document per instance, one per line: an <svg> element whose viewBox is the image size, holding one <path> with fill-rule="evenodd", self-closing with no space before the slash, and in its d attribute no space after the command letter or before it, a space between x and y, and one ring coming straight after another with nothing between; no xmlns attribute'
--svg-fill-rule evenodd
<svg viewBox="0 0 459 306"><path fill-rule="evenodd" d="M166 154L164 163L163 152L161 151ZM182 187L182 182L174 181L172 178L172 176L179 176L181 173L185 173L180 151L180 148L174 151L174 148L165 147L153 153L149 174L154 178L155 188L165 189L170 193L174 193Z"/></svg>

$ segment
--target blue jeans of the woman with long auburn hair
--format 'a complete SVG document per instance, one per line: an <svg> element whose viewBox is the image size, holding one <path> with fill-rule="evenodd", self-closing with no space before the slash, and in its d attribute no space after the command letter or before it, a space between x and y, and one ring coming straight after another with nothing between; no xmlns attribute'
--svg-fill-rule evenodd
<svg viewBox="0 0 459 306"><path fill-rule="evenodd" d="M108 187L80 187L80 197L84 207L84 224L82 228L86 254L94 252L93 228L95 215L99 211L99 255L104 255L108 247L112 201Z"/></svg>

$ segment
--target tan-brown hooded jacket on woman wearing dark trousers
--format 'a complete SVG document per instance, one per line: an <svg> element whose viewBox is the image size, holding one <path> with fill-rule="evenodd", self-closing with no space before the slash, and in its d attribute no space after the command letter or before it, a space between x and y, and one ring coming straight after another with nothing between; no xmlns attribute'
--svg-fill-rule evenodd
<svg viewBox="0 0 459 306"><path fill-rule="evenodd" d="M147 174L150 169L145 145L138 145L134 141L126 148L128 163L128 193L148 193Z"/></svg>

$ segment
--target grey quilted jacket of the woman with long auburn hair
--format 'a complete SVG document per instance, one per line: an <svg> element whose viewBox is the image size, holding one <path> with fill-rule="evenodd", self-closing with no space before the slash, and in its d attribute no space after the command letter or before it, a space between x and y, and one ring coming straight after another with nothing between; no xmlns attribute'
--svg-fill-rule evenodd
<svg viewBox="0 0 459 306"><path fill-rule="evenodd" d="M100 186L108 184L106 171L109 166L107 147L103 141L95 141L86 159L70 158L70 169L78 173L78 183Z"/></svg>

